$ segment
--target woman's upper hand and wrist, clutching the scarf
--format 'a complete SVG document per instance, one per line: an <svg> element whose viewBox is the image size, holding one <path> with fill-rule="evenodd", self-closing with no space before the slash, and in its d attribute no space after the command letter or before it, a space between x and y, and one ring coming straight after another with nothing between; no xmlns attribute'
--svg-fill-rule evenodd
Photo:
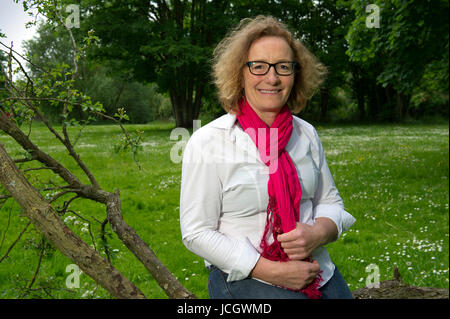
<svg viewBox="0 0 450 319"><path fill-rule="evenodd" d="M335 240L336 224L328 218L317 218L314 225L297 223L297 227L288 233L277 236L281 247L291 260L303 260L311 257L320 246Z"/></svg>

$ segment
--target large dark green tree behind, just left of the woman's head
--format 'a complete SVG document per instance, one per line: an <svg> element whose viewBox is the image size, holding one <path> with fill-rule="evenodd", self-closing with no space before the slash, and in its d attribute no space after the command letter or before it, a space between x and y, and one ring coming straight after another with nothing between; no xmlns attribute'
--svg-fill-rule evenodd
<svg viewBox="0 0 450 319"><path fill-rule="evenodd" d="M229 1L83 1L97 57L168 92L176 125L192 127L210 84L212 47L225 33ZM126 27L124 27L126 26Z"/></svg>

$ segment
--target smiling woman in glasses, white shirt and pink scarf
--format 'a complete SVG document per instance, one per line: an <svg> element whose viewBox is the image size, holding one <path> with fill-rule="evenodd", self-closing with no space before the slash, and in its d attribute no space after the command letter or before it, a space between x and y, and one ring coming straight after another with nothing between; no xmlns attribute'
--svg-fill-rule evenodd
<svg viewBox="0 0 450 319"><path fill-rule="evenodd" d="M263 16L243 20L214 55L228 113L186 145L180 200L183 242L210 269L210 297L352 298L324 245L355 220L315 129L291 114L324 66Z"/></svg>

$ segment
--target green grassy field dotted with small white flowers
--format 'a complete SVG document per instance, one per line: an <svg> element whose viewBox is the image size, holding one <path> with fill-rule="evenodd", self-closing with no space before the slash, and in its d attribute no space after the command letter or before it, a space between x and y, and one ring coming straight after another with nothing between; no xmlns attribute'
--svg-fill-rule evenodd
<svg viewBox="0 0 450 319"><path fill-rule="evenodd" d="M84 129L76 149L100 185L120 189L124 219L189 290L208 298L203 260L181 242L179 193L181 164L170 160L176 141L170 124L130 125L144 132L138 155L139 170L130 154L115 153L120 139L116 126ZM372 264L380 279L399 268L405 282L417 286L449 287L449 130L448 125L317 126L327 160L347 211L357 219L352 229L328 245L333 261L350 289L364 287ZM73 135L76 130L72 131ZM67 157L67 151L36 125L31 134L43 150L87 179ZM14 158L23 157L14 142L0 133ZM30 165L30 164L28 164ZM37 167L37 163L32 164ZM26 167L25 165L22 166ZM46 171L26 173L37 187L58 182ZM46 196L52 196L47 192ZM61 198L57 205L70 197ZM100 223L105 209L90 201L75 200L73 209L86 220L67 213L63 218L79 236L102 250ZM27 223L13 200L0 208L0 258ZM167 298L145 268L107 228L112 263L149 298ZM87 275L80 287L68 290L66 267L72 262L46 247L32 290L26 289L39 260L41 236L32 226L0 263L0 298L110 298ZM373 269L373 268L370 268Z"/></svg>

